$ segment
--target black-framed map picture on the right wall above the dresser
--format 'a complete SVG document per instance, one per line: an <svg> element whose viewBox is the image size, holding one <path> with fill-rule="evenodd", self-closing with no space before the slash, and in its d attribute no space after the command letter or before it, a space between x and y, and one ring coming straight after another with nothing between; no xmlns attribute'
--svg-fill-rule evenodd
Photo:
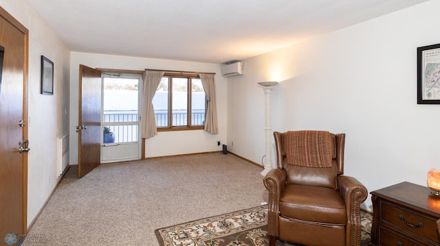
<svg viewBox="0 0 440 246"><path fill-rule="evenodd" d="M417 48L417 104L440 104L440 44Z"/></svg>

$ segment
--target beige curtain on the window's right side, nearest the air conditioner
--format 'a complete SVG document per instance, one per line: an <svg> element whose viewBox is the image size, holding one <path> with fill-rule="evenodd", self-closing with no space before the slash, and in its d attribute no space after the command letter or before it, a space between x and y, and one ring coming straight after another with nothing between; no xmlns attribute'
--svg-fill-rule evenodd
<svg viewBox="0 0 440 246"><path fill-rule="evenodd" d="M213 74L201 73L200 79L206 94L206 119L205 131L210 134L218 134L217 103L215 100L215 81Z"/></svg>

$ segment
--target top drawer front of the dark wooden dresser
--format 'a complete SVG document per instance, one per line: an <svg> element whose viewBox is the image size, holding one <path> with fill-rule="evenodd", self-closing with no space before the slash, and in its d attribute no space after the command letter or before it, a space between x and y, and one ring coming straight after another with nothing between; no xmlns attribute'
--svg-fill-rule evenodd
<svg viewBox="0 0 440 246"><path fill-rule="evenodd" d="M382 201L380 207L382 223L395 227L401 234L417 236L431 244L439 245L437 219L386 201Z"/></svg>

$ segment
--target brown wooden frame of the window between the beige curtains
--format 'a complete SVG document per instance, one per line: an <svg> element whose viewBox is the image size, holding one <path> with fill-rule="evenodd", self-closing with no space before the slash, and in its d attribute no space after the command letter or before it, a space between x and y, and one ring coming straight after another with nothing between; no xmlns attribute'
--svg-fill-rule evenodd
<svg viewBox="0 0 440 246"><path fill-rule="evenodd" d="M173 131L188 131L188 130L203 130L205 125L191 125L192 122L192 79L201 79L198 74L192 73L164 73L162 77L168 77L168 126L157 127L157 132L173 132ZM173 77L188 79L188 90L186 93L187 103L187 125L173 126ZM204 92L204 88L203 88ZM206 117L206 93L205 93L205 117Z"/></svg>

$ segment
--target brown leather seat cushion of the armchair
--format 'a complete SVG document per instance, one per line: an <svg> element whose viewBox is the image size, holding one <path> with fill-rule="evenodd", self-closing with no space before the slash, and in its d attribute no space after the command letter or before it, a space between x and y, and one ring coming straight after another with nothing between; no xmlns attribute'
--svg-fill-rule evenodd
<svg viewBox="0 0 440 246"><path fill-rule="evenodd" d="M313 223L345 225L347 209L338 190L289 184L280 199L281 216Z"/></svg>

